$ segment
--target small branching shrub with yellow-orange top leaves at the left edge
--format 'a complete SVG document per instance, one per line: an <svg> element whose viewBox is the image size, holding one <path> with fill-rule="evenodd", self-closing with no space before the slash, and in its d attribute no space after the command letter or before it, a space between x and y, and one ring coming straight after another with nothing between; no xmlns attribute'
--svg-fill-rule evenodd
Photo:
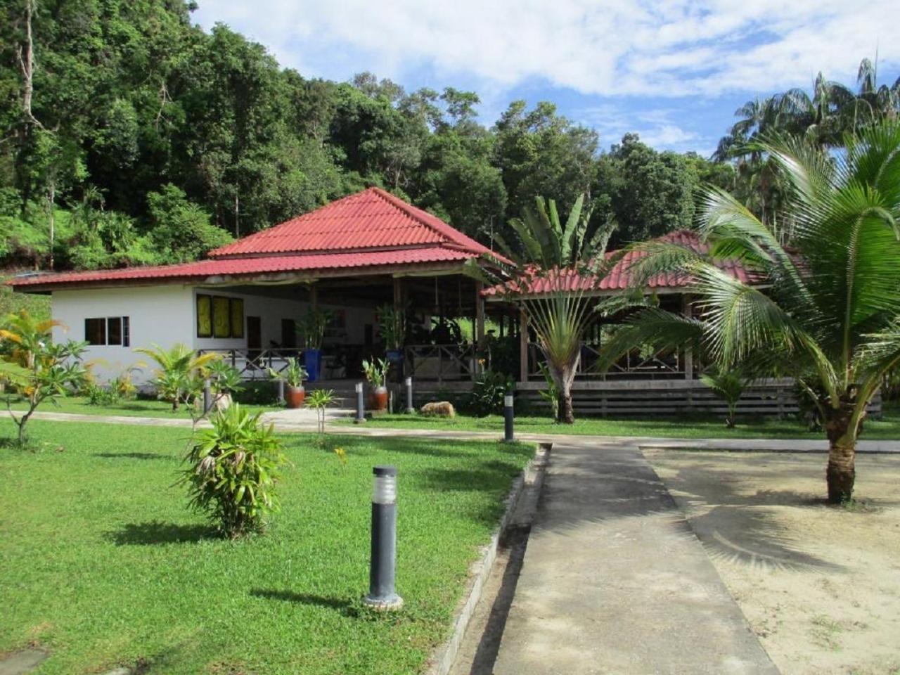
<svg viewBox="0 0 900 675"><path fill-rule="evenodd" d="M7 409L18 427L18 442L25 442L25 428L31 415L44 401L56 401L67 391L85 383L87 371L81 357L85 343L52 341L50 331L57 321L35 321L28 311L10 314L0 329L0 382L4 383ZM13 397L21 397L27 409L16 416L10 407Z"/></svg>

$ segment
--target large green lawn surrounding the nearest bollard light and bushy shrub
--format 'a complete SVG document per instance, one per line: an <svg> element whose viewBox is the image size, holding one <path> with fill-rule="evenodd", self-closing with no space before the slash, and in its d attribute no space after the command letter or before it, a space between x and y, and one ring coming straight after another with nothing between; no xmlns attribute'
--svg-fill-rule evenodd
<svg viewBox="0 0 900 675"><path fill-rule="evenodd" d="M12 436L0 422L0 437ZM533 454L494 442L285 437L264 536L218 538L173 487L185 432L35 420L0 447L0 654L36 673L414 673L448 635L467 570ZM347 464L333 449L343 447ZM368 590L374 464L399 468L398 591Z"/></svg>

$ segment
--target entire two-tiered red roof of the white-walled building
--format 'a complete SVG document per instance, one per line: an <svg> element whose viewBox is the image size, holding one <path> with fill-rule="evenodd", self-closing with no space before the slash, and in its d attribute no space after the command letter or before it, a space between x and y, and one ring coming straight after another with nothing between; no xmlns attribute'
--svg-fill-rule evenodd
<svg viewBox="0 0 900 675"><path fill-rule="evenodd" d="M351 194L316 211L238 239L194 263L64 272L14 278L16 289L52 290L75 284L168 281L201 282L223 275L329 270L389 272L391 266L462 262L493 255L436 216L377 187Z"/></svg>

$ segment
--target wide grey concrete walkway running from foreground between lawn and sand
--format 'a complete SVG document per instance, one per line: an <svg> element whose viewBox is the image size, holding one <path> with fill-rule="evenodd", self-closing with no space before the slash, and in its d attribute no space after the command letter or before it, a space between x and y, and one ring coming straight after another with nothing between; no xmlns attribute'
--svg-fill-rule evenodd
<svg viewBox="0 0 900 675"><path fill-rule="evenodd" d="M554 444L494 673L778 671L639 449L582 442Z"/></svg>

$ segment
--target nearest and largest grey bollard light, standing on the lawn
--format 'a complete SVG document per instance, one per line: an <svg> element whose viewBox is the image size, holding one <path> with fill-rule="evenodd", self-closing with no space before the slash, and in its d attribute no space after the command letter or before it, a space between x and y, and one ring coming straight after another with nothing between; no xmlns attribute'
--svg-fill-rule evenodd
<svg viewBox="0 0 900 675"><path fill-rule="evenodd" d="M394 590L397 567L397 467L375 466L372 490L372 559L369 564L368 607L400 609L403 599Z"/></svg>

